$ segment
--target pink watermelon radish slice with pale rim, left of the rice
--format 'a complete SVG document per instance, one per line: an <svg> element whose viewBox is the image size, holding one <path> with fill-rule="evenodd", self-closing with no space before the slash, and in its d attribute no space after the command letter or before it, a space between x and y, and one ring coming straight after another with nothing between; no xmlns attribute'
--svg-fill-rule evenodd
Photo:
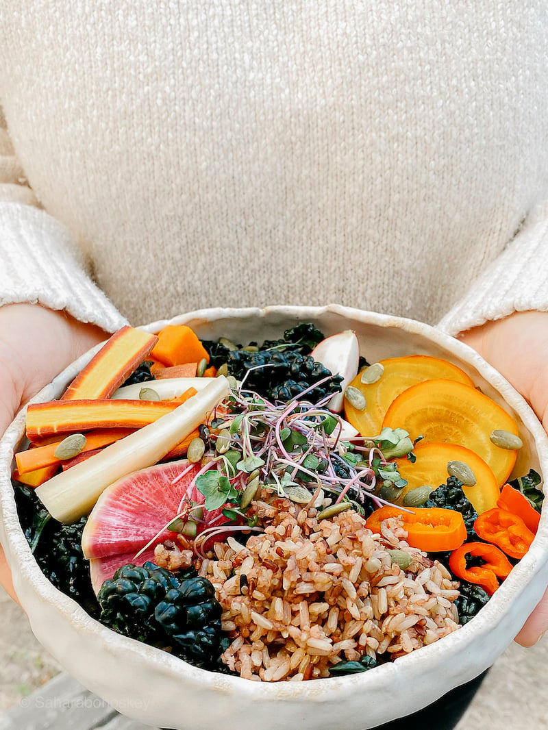
<svg viewBox="0 0 548 730"><path fill-rule="evenodd" d="M123 477L102 493L82 536L84 556L91 560L95 591L99 591L104 580L113 577L118 567L126 563L142 565L153 559L156 545L177 537L174 532L161 529L177 516L184 497L203 504L204 496L192 485L199 466L192 466L174 483L188 467L186 460L156 464ZM206 529L213 519L216 525L227 521L221 510L204 512L205 521L199 523L198 531ZM156 539L151 548L135 558L153 538Z"/></svg>

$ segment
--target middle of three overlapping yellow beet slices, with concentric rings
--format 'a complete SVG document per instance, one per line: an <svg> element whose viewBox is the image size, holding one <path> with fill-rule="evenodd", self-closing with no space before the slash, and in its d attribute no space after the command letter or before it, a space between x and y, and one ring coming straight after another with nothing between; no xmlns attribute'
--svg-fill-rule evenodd
<svg viewBox="0 0 548 730"><path fill-rule="evenodd" d="M499 486L508 479L517 451L495 446L495 429L518 434L517 424L501 406L454 380L426 380L400 393L384 416L383 426L406 429L412 440L441 441L465 446L492 470Z"/></svg>

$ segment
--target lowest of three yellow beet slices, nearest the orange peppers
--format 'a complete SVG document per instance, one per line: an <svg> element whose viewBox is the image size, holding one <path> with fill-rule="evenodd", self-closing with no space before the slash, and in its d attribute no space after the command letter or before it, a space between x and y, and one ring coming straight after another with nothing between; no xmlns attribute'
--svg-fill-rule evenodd
<svg viewBox="0 0 548 730"><path fill-rule="evenodd" d="M399 503L403 496L415 487L427 485L435 489L444 484L449 476L447 473L449 461L463 461L470 466L476 477L476 484L473 487L463 485L463 491L473 504L474 510L480 515L497 506L497 499L501 496L497 479L484 460L470 449L439 441L419 441L413 452L416 456L414 464L411 464L408 458L395 460L400 476L408 481L408 485L400 493Z"/></svg>

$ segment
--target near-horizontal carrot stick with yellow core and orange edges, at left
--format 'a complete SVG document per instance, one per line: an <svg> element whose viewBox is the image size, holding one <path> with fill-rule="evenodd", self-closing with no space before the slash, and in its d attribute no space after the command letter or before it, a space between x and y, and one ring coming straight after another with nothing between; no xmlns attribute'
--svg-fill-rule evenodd
<svg viewBox="0 0 548 730"><path fill-rule="evenodd" d="M166 401L77 400L32 403L26 414L28 439L92 429L139 429L171 412Z"/></svg>

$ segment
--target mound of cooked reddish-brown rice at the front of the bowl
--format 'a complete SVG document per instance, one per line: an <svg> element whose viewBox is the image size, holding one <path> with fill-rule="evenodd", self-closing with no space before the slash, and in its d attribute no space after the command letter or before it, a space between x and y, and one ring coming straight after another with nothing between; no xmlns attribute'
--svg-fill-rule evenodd
<svg viewBox="0 0 548 730"><path fill-rule="evenodd" d="M241 677L328 677L339 661L397 658L459 628L458 584L409 547L398 518L376 535L357 512L318 521L317 510L266 490L249 511L265 532L246 545L216 543L199 566L216 588L224 626L238 634L221 659ZM405 572L392 563L393 548L411 556Z"/></svg>

